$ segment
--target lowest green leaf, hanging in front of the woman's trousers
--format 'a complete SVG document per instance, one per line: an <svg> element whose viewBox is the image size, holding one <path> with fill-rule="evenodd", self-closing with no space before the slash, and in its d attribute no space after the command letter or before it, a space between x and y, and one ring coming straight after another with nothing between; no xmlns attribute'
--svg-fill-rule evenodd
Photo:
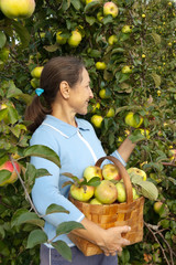
<svg viewBox="0 0 176 265"><path fill-rule="evenodd" d="M68 262L72 262L70 247L64 241L56 241L52 243L52 246Z"/></svg>

